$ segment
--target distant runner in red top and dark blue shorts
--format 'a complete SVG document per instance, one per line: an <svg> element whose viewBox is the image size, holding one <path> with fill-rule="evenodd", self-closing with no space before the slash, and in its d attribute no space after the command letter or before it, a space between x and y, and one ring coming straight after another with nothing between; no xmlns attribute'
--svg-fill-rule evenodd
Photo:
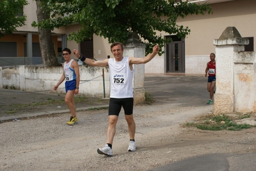
<svg viewBox="0 0 256 171"><path fill-rule="evenodd" d="M212 97L215 93L214 87L216 85L216 61L215 61L215 54L210 53L210 61L206 65L205 69L205 77L208 76L208 83L207 83L207 90L210 92L210 99L207 104L212 104Z"/></svg>

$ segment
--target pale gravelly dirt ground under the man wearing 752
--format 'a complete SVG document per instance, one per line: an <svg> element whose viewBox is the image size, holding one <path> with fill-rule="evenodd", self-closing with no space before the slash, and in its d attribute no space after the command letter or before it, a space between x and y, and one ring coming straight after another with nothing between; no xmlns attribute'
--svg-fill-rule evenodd
<svg viewBox="0 0 256 171"><path fill-rule="evenodd" d="M106 141L107 110L79 111L79 124L67 126L68 113L0 124L0 170L150 170L210 153L255 152L256 129L200 131L184 128L212 106L173 108L135 106L137 151L127 152L128 131L121 112L114 156L96 150Z"/></svg>

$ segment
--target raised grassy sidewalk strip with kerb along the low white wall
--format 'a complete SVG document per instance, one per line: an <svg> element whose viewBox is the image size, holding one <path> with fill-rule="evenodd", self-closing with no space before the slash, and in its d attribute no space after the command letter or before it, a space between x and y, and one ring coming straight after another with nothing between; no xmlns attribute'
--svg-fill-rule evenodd
<svg viewBox="0 0 256 171"><path fill-rule="evenodd" d="M69 113L64 97L65 94L22 92L1 88L0 106L2 110L0 111L0 122L37 117L38 115ZM76 102L76 111L105 107L108 107L108 98L81 96L81 100Z"/></svg>

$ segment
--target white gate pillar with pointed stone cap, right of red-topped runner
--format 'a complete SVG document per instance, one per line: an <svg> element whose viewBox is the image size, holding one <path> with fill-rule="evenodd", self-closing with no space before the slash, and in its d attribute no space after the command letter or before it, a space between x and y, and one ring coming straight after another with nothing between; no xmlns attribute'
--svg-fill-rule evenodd
<svg viewBox="0 0 256 171"><path fill-rule="evenodd" d="M249 40L242 38L235 27L227 27L216 45L216 93L214 95L214 114L232 113L235 110L234 94L234 56L244 51Z"/></svg>

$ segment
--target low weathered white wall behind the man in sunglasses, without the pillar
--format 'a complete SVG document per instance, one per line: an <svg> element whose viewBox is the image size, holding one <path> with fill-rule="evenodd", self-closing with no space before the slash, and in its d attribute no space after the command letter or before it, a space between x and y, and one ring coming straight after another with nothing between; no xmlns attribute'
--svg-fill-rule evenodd
<svg viewBox="0 0 256 171"><path fill-rule="evenodd" d="M90 97L109 97L110 84L108 67L91 67L81 65L79 93ZM103 83L103 70L105 84ZM62 67L32 67L19 65L15 67L0 67L0 87L24 90L30 92L46 92L65 94L65 81L58 90L53 86L62 76Z"/></svg>

